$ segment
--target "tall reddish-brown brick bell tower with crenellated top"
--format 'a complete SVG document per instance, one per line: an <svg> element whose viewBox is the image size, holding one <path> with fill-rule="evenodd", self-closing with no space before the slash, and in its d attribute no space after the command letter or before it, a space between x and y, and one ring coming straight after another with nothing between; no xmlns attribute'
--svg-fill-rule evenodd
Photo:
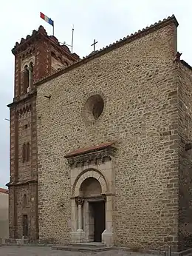
<svg viewBox="0 0 192 256"><path fill-rule="evenodd" d="M10 238L38 239L38 162L35 81L79 59L44 27L21 38L15 55L15 87L10 107Z"/></svg>

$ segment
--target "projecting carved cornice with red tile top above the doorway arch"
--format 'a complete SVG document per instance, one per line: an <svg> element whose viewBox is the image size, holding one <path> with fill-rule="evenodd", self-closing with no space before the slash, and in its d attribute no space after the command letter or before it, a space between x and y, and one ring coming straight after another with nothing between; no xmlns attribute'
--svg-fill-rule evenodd
<svg viewBox="0 0 192 256"><path fill-rule="evenodd" d="M92 149L84 149L81 152L75 153L75 154L68 154L65 155L65 158L68 161L68 164L70 166L75 165L78 166L84 165L84 164L89 164L92 161L106 161L106 158L110 158L114 156L114 153L116 152L116 148L112 146L112 144L109 144L107 146L97 146L97 147L92 147Z"/></svg>

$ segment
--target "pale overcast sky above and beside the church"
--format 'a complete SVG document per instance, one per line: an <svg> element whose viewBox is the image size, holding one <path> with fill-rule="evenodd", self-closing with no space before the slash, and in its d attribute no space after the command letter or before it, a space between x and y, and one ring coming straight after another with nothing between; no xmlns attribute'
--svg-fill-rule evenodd
<svg viewBox="0 0 192 256"><path fill-rule="evenodd" d="M1 2L0 47L0 187L9 181L9 110L13 101L14 56L11 49L21 37L43 25L49 35L52 27L39 17L41 11L55 22L55 36L71 43L75 26L74 52L83 57L98 41L103 48L143 27L174 14L179 21L178 50L192 64L191 0L6 0ZM97 49L96 48L96 49ZM192 86L192 85L191 85Z"/></svg>

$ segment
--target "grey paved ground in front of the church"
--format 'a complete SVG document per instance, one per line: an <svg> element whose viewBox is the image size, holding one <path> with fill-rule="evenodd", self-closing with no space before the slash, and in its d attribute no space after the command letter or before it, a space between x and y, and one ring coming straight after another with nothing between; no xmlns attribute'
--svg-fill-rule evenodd
<svg viewBox="0 0 192 256"><path fill-rule="evenodd" d="M38 246L0 246L0 256L137 256L136 253L130 254L128 252L106 251L106 252L66 252L52 250L49 247ZM145 255L147 256L147 255Z"/></svg>

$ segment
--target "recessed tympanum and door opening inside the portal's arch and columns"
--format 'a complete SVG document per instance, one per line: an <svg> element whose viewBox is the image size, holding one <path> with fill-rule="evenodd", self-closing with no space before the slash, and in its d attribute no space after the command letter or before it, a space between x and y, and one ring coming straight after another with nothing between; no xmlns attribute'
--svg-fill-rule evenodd
<svg viewBox="0 0 192 256"><path fill-rule="evenodd" d="M80 185L83 198L83 230L89 242L101 242L106 229L106 201L96 178L86 178Z"/></svg>

